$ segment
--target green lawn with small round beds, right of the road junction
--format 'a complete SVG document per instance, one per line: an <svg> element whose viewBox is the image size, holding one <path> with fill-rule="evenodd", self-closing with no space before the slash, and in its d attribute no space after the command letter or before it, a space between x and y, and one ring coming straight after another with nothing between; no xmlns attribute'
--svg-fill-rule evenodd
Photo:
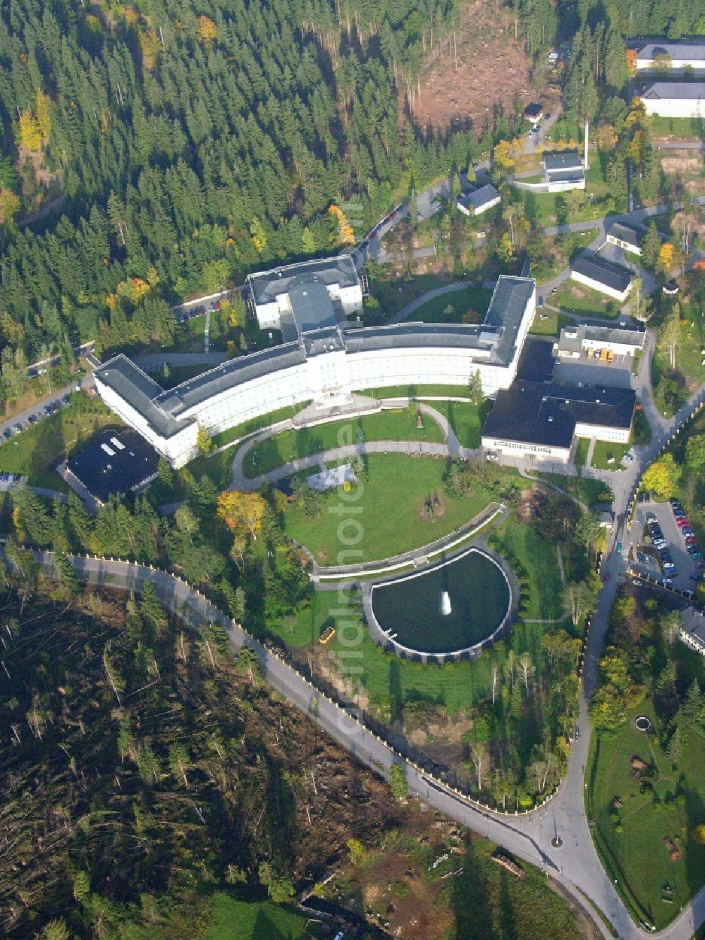
<svg viewBox="0 0 705 940"><path fill-rule="evenodd" d="M608 861L615 869L619 886L639 905L642 916L662 930L705 882L705 846L691 838L694 825L705 823L702 794L705 792L705 738L693 732L694 740L683 747L682 760L673 770L655 735L646 735L634 727L636 714L648 714L654 721L650 703L644 703L629 715L629 720L614 736L599 739L598 757L592 785L592 815L608 850ZM663 795L675 791L680 775L685 778L685 799L654 806L653 794L639 793L632 776L631 758L637 755L648 763L655 761L658 773L656 791ZM660 781L660 782L659 782ZM617 832L610 820L610 807L619 797ZM670 861L664 844L673 838L681 850L679 861ZM599 839L598 839L599 844ZM645 864L648 860L648 864ZM673 890L673 902L662 901L664 885Z"/></svg>

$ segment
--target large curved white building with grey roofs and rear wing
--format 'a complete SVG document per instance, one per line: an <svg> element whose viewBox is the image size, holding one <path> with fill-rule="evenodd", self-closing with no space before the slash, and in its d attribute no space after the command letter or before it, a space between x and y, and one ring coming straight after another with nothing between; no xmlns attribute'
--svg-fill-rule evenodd
<svg viewBox="0 0 705 940"><path fill-rule="evenodd" d="M476 372L487 395L509 388L534 317L533 280L500 277L479 326L360 327L346 319L359 309L359 281L339 290L330 274L341 265L348 280L356 280L350 256L257 275L253 312L260 323L282 330L281 345L232 359L168 391L118 355L95 370L102 399L180 467L196 456L199 428L213 436L288 405L313 401L322 412L349 402L355 390L468 384ZM267 277L268 287L259 290ZM278 295L277 283L283 288ZM262 298L267 306L260 317Z"/></svg>

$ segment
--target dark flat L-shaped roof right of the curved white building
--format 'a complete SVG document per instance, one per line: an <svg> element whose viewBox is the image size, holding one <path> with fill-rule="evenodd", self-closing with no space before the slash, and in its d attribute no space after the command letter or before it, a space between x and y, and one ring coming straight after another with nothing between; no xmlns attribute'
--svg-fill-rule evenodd
<svg viewBox="0 0 705 940"><path fill-rule="evenodd" d="M521 444L571 445L577 422L626 430L632 426L632 388L580 388L515 381L497 392L482 434Z"/></svg>

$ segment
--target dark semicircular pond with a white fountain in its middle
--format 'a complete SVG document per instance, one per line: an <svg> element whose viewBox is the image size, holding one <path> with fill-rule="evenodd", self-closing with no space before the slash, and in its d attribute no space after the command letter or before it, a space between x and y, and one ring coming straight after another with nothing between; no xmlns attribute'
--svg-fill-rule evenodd
<svg viewBox="0 0 705 940"><path fill-rule="evenodd" d="M478 548L370 592L382 633L403 650L421 653L476 647L504 626L510 605L507 574Z"/></svg>

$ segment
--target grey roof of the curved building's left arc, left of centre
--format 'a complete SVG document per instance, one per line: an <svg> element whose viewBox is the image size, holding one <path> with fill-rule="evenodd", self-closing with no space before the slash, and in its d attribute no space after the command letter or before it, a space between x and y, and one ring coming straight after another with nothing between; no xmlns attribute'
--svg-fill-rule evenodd
<svg viewBox="0 0 705 940"><path fill-rule="evenodd" d="M250 352L248 355L230 359L227 363L208 372L197 375L194 379L177 385L168 392L162 392L156 399L165 412L178 416L186 409L193 408L201 401L211 399L213 395L230 388L258 379L269 372L281 368L290 368L305 362L305 352L298 343L286 343L269 350Z"/></svg>

